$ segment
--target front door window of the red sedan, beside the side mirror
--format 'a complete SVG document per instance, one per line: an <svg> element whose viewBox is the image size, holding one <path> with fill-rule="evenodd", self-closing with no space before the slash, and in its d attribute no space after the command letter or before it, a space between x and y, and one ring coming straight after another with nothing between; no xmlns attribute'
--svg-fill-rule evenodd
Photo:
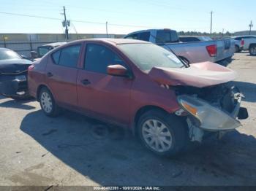
<svg viewBox="0 0 256 191"><path fill-rule="evenodd" d="M86 45L84 69L107 74L107 67L114 64L125 66L124 61L108 47L99 44Z"/></svg>

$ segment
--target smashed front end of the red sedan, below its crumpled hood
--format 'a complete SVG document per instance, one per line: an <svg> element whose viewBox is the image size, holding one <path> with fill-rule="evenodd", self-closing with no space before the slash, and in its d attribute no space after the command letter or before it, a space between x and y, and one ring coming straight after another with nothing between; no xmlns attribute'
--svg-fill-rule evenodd
<svg viewBox="0 0 256 191"><path fill-rule="evenodd" d="M210 87L173 86L178 103L187 112L189 137L192 141L202 141L206 132L219 135L241 126L236 118L248 117L246 108L241 108L244 97L232 82ZM181 111L176 112L177 115Z"/></svg>

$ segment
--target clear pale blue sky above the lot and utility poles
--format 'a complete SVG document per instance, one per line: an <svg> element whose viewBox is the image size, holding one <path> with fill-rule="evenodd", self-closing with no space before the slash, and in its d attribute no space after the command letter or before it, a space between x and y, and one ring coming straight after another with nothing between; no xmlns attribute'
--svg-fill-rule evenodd
<svg viewBox="0 0 256 191"><path fill-rule="evenodd" d="M71 33L105 34L106 21L109 34L146 28L209 32L211 10L213 31L248 30L250 20L256 28L255 0L0 0L0 4L0 33L63 33L63 6Z"/></svg>

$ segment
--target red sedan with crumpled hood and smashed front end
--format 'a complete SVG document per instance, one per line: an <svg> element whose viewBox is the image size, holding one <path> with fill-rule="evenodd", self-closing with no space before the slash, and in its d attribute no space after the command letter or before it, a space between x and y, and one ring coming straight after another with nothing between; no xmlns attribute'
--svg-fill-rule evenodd
<svg viewBox="0 0 256 191"><path fill-rule="evenodd" d="M176 155L241 126L248 117L236 72L217 63L184 63L155 44L85 39L48 52L29 67L29 93L54 117L61 108L130 128L158 155Z"/></svg>

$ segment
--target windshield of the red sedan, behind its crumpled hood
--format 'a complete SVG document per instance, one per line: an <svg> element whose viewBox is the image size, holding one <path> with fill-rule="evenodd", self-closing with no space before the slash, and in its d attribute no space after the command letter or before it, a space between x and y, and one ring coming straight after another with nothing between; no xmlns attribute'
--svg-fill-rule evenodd
<svg viewBox="0 0 256 191"><path fill-rule="evenodd" d="M118 47L142 71L154 67L181 68L184 66L176 55L155 44L119 44Z"/></svg>

